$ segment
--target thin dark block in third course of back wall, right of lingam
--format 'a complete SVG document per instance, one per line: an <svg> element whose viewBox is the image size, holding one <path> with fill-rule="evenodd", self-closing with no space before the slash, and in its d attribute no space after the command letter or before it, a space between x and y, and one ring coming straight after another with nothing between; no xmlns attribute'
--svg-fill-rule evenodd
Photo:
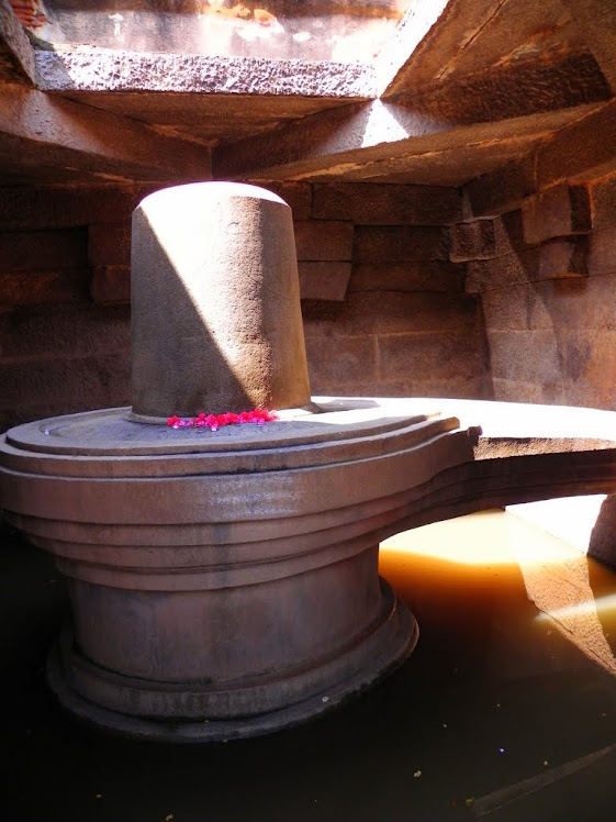
<svg viewBox="0 0 616 822"><path fill-rule="evenodd" d="M358 263L349 291L461 291L464 266L441 260Z"/></svg>

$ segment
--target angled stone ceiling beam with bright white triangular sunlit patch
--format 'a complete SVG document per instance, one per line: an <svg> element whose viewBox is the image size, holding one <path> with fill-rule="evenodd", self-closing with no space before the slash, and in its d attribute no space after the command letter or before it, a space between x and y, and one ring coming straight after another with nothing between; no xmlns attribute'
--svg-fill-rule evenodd
<svg viewBox="0 0 616 822"><path fill-rule="evenodd" d="M456 186L519 157L538 138L578 121L580 109L590 113L603 105L589 103L585 109L556 111L548 105L547 112L535 114L528 114L526 107L519 112L525 116L491 120L488 96L483 103L485 121L458 125L453 120L452 126L441 112L432 112L429 108L418 110L414 96L403 102L376 100L322 111L267 133L217 146L212 158L214 175L313 181L320 177L341 181L356 175L365 181L377 178L400 182L404 181L397 177L402 173L411 182ZM540 108L539 101L536 102ZM450 163L445 180L438 178L443 153L457 160ZM419 180L418 174L422 174Z"/></svg>

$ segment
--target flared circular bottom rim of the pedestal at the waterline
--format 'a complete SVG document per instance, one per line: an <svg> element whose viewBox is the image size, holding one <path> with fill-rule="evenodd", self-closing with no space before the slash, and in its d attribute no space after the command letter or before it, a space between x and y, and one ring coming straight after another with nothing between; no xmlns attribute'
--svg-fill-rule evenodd
<svg viewBox="0 0 616 822"><path fill-rule="evenodd" d="M102 708L85 699L71 686L70 658L78 652L74 647L70 631L63 632L49 654L47 681L60 704L77 719L133 738L164 743L226 742L292 727L340 706L347 699L377 684L402 665L413 652L418 638L415 618L384 580L381 580L381 585L383 593L387 592L392 598L389 618L359 645L348 651L350 675L318 693L311 693L306 699L279 710L233 720L209 720L205 717L197 721L179 721L134 717ZM376 640L378 653L374 653ZM361 667L354 668L354 663L357 666L358 657L361 659ZM336 667L339 670L339 667Z"/></svg>

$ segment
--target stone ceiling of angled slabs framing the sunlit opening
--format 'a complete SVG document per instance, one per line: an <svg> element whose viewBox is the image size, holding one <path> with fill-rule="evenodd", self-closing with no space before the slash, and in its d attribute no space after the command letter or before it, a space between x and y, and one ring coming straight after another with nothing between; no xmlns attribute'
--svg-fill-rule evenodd
<svg viewBox="0 0 616 822"><path fill-rule="evenodd" d="M614 162L616 3L403 7L376 56L336 62L52 43L38 0L0 0L0 184L456 186L580 129L606 147L572 174Z"/></svg>

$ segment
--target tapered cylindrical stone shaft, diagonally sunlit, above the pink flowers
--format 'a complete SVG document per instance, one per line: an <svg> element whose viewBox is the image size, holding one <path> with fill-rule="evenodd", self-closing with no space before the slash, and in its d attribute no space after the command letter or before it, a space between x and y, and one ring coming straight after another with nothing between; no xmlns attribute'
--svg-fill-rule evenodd
<svg viewBox="0 0 616 822"><path fill-rule="evenodd" d="M157 191L133 213L133 413L310 403L291 209L237 182Z"/></svg>

